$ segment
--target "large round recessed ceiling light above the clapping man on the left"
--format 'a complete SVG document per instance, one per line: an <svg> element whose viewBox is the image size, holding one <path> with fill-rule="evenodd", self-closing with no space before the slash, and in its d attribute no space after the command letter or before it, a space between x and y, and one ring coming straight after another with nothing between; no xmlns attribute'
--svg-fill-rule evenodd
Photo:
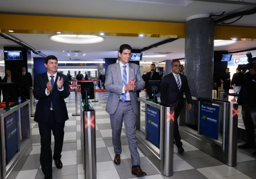
<svg viewBox="0 0 256 179"><path fill-rule="evenodd" d="M99 43L104 40L96 35L53 35L50 38L55 42L72 44Z"/></svg>

